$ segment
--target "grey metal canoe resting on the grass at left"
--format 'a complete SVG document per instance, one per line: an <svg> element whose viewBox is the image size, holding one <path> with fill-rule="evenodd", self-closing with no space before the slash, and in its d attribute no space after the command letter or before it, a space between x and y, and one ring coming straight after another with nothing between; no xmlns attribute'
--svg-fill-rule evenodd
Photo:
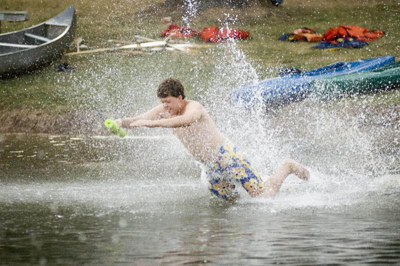
<svg viewBox="0 0 400 266"><path fill-rule="evenodd" d="M0 76L39 68L59 57L72 43L73 5L29 28L0 34Z"/></svg>

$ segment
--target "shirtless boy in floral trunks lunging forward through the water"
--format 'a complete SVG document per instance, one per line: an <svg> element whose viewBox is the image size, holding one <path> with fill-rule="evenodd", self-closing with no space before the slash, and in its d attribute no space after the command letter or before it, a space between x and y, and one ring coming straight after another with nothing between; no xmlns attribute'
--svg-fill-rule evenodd
<svg viewBox="0 0 400 266"><path fill-rule="evenodd" d="M251 197L273 197L285 178L295 174L307 180L309 173L291 159L267 181L263 182L239 153L236 147L215 127L204 107L185 99L179 80L167 78L157 88L161 104L134 117L117 119L122 127L168 127L189 153L206 168L208 188L219 198L235 199L237 186L242 186Z"/></svg>

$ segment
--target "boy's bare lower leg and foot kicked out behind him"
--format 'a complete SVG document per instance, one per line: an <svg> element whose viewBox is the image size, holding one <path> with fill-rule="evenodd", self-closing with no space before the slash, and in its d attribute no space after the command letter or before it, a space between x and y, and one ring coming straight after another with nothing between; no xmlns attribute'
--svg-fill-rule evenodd
<svg viewBox="0 0 400 266"><path fill-rule="evenodd" d="M265 198L275 196L283 181L290 174L294 174L302 180L307 180L309 177L309 172L304 166L292 159L284 160L283 165L276 171L276 173L264 182L266 190L262 196Z"/></svg>

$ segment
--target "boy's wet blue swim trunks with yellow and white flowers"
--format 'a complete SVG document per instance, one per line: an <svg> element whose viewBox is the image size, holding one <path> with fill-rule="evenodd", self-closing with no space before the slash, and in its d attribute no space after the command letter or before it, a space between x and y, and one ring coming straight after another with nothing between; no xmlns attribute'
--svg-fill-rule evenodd
<svg viewBox="0 0 400 266"><path fill-rule="evenodd" d="M205 164L208 188L218 198L238 197L236 185L240 184L251 197L265 190L265 185L250 163L241 155L232 142L222 145L213 162Z"/></svg>

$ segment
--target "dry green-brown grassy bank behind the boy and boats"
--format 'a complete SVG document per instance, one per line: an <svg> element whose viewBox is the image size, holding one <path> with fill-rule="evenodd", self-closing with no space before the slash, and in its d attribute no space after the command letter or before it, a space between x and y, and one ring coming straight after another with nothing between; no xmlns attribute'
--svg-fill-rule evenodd
<svg viewBox="0 0 400 266"><path fill-rule="evenodd" d="M3 10L25 10L30 19L23 22L1 23L1 32L28 27L42 22L70 4L76 9L76 36L90 48L109 47L108 39L133 40L139 34L158 38L166 26L160 21L171 16L182 24L186 10L182 0L169 0L174 5L164 6L163 0L2 0ZM233 1L234 2L234 1ZM249 0L246 4L215 8L200 8L190 19L190 26L223 26L248 30L250 38L238 41L235 51L242 51L246 62L255 69L259 78L276 75L276 67L298 67L303 70L320 67L336 61L350 61L374 56L400 53L397 0L286 0L278 7L269 1ZM229 14L229 15L227 15ZM370 29L381 29L385 36L362 49L343 48L335 51L312 49L314 43L282 42L277 38L299 27L312 27L320 32L340 24L355 24ZM201 43L200 39L191 42ZM75 49L75 48L71 48ZM232 46L214 45L195 55L162 52L148 56L115 54L89 54L62 57L38 71L17 78L0 81L0 109L39 108L51 110L104 109L130 111L135 103L153 97L155 86L169 75L179 77L188 94L201 97L209 87L227 91L251 80L246 66L235 73L229 60L240 60L231 53ZM58 73L54 66L68 62L76 67L73 73ZM240 72L241 71L241 72ZM243 78L240 79L240 75ZM395 92L386 92L391 95ZM222 95L222 93L221 93ZM221 96L218 95L218 96ZM398 104L398 94L388 97L390 104ZM386 97L387 98L387 97ZM385 97L379 97L385 101ZM115 106L117 107L115 109Z"/></svg>

